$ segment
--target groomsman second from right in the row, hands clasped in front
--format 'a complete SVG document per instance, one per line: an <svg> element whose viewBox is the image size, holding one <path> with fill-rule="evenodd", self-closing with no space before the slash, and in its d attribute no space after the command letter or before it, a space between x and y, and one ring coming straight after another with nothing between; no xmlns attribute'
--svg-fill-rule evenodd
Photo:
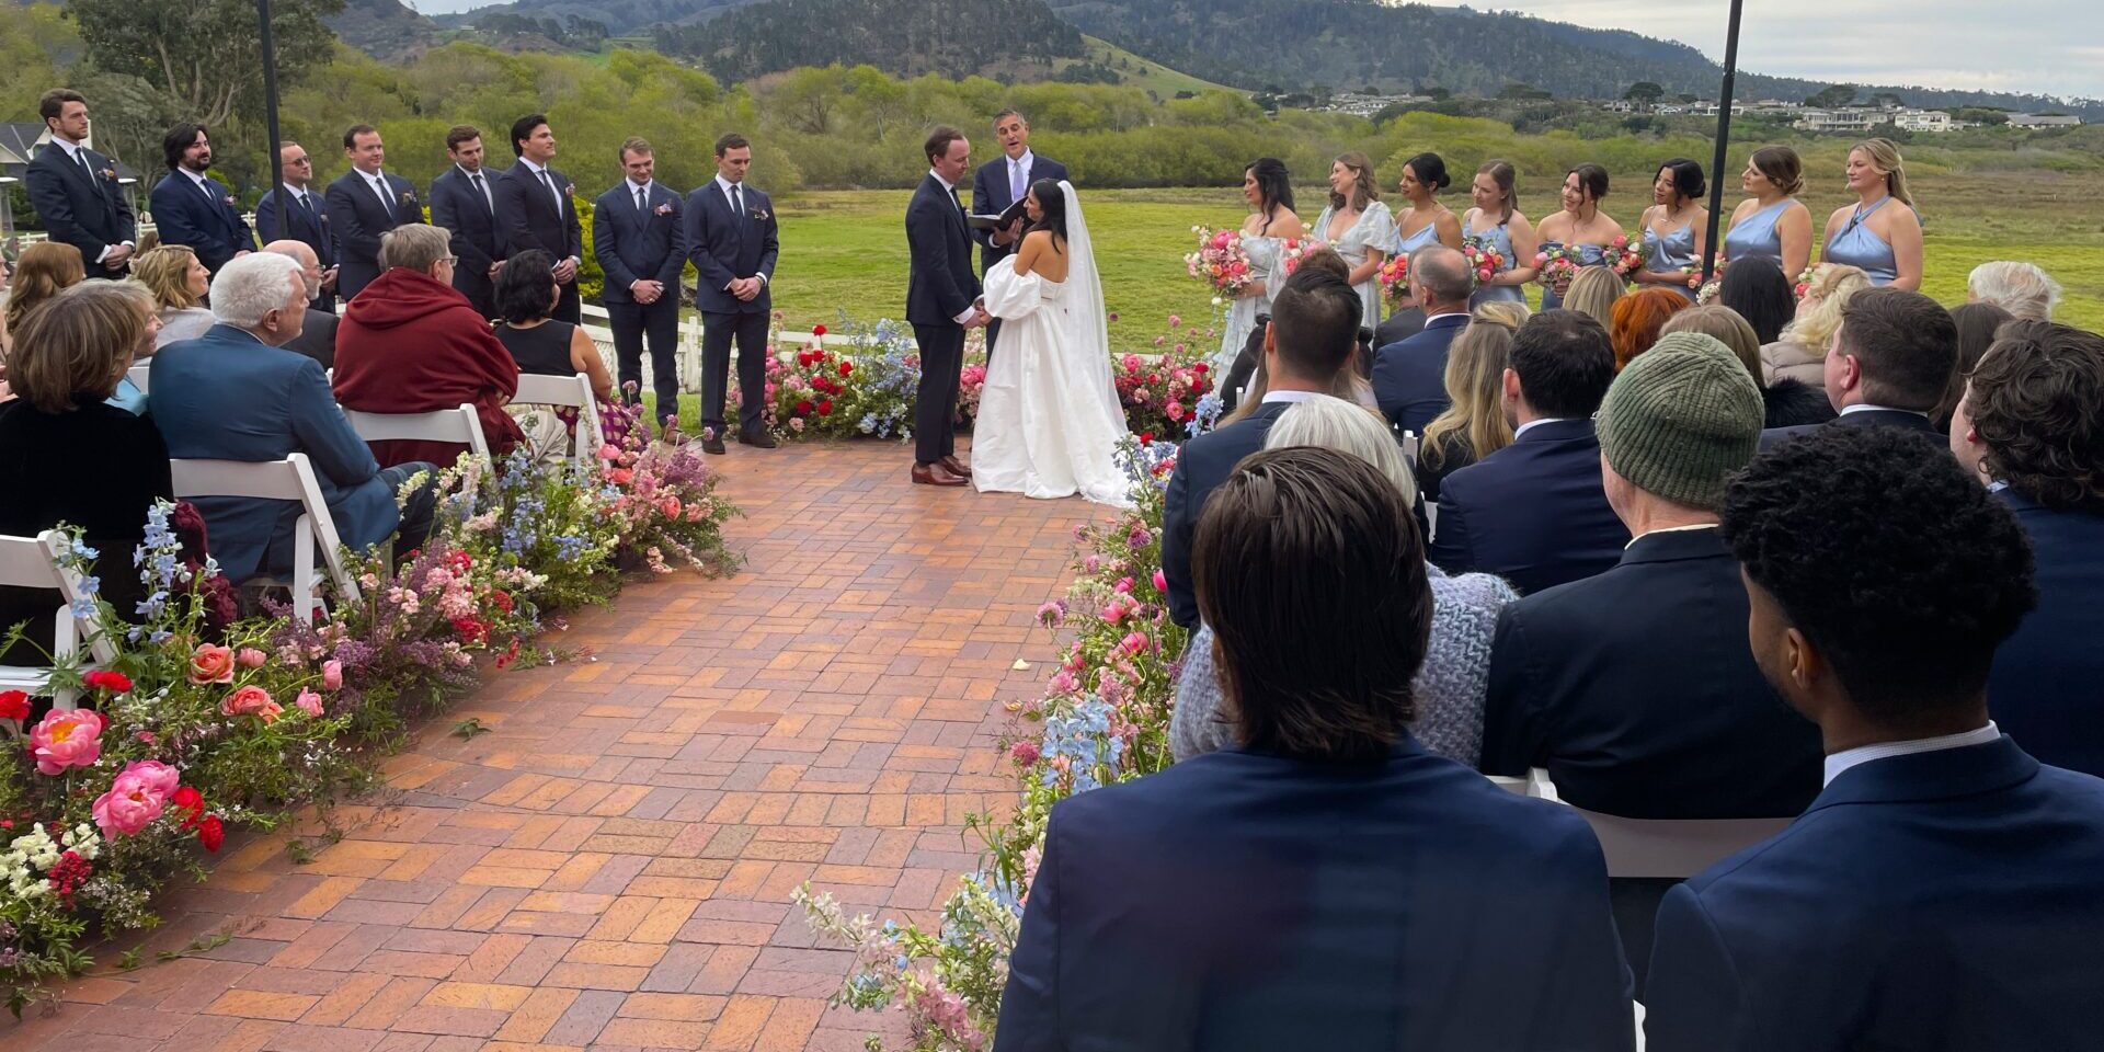
<svg viewBox="0 0 2104 1052"><path fill-rule="evenodd" d="M621 360L621 389L644 379L644 341L650 341L650 387L656 391L656 417L680 419L680 366L673 351L680 343L680 271L686 269L686 217L680 194L652 179L656 160L650 143L621 143L621 168L627 179L600 194L591 213L591 255L606 274L608 322L614 328L614 356Z"/></svg>

